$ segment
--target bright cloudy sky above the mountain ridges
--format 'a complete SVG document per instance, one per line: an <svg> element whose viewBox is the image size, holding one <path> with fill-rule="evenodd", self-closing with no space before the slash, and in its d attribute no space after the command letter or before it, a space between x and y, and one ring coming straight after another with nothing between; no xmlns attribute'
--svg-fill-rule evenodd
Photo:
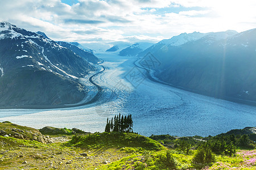
<svg viewBox="0 0 256 170"><path fill-rule="evenodd" d="M0 21L58 41L158 42L256 28L255 9L255 0L0 0Z"/></svg>

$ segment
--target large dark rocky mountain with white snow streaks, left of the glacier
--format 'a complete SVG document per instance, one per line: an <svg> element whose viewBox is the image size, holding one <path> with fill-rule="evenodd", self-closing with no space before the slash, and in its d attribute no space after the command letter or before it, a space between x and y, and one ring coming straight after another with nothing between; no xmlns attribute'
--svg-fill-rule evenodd
<svg viewBox="0 0 256 170"><path fill-rule="evenodd" d="M72 50L0 23L0 105L60 105L85 96L78 79L95 70Z"/></svg>

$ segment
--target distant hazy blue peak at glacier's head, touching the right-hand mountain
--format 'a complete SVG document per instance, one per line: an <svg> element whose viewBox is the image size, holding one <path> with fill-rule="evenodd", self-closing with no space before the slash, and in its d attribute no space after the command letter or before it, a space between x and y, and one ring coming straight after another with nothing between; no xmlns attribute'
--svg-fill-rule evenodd
<svg viewBox="0 0 256 170"><path fill-rule="evenodd" d="M151 42L137 42L119 52L119 56L137 56L137 54L143 52L148 47L153 45Z"/></svg>

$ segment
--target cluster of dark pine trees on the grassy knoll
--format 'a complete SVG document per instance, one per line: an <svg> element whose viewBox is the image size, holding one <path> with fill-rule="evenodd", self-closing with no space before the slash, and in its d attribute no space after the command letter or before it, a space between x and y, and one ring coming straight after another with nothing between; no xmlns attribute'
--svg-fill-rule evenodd
<svg viewBox="0 0 256 170"><path fill-rule="evenodd" d="M121 114L119 113L119 116L112 117L111 120L107 118L105 132L110 131L133 132L133 119L131 118L131 114L125 117L122 115L121 117Z"/></svg>

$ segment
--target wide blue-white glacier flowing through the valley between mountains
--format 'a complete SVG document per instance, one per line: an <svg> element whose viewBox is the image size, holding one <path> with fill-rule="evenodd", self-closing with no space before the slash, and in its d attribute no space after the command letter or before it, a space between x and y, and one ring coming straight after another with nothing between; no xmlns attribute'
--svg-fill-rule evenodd
<svg viewBox="0 0 256 170"><path fill-rule="evenodd" d="M230 129L255 126L256 108L213 97L193 94L145 78L143 69L134 65L136 57L121 57L117 53L96 54L104 59L105 71L92 80L102 88L95 103L62 109L1 109L0 121L43 128L76 127L84 131L103 131L107 117L133 114L134 131L177 136L216 135ZM101 66L99 66L100 68ZM139 83L131 76L135 70ZM92 75L95 73L92 73ZM86 75L81 81L88 90L84 101L91 100L98 88ZM133 84L135 87L133 86ZM83 101L83 102L84 102Z"/></svg>

